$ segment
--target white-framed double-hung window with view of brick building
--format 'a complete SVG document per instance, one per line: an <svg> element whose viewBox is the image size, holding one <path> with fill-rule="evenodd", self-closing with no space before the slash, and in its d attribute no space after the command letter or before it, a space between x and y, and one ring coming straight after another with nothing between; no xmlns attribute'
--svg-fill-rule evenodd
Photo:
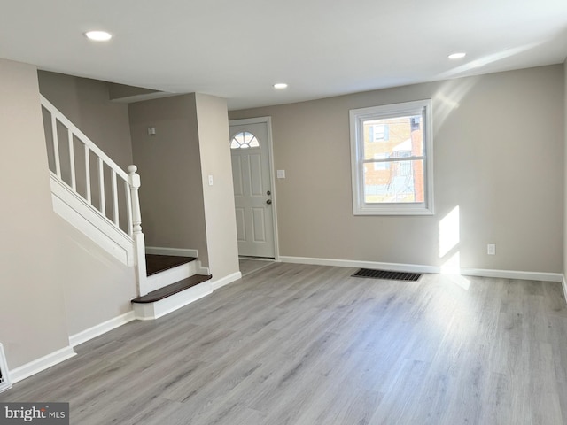
<svg viewBox="0 0 567 425"><path fill-rule="evenodd" d="M431 100L350 111L353 213L433 213Z"/></svg>

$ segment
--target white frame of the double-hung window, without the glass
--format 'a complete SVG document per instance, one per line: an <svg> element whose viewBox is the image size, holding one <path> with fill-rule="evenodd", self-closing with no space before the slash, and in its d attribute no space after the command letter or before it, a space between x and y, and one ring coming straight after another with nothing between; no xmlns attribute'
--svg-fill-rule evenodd
<svg viewBox="0 0 567 425"><path fill-rule="evenodd" d="M354 215L432 215L433 214L433 136L431 99L386 104L369 108L352 109L351 129L351 170L353 185ZM363 122L383 120L408 115L422 115L423 132L423 189L424 201L413 203L366 203L364 201L364 131ZM408 157L404 159L421 159ZM392 158L389 160L399 160Z"/></svg>

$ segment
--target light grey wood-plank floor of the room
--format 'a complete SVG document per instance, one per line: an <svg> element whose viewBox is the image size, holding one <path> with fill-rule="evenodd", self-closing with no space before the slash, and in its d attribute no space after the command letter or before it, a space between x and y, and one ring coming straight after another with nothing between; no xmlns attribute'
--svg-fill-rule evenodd
<svg viewBox="0 0 567 425"><path fill-rule="evenodd" d="M274 263L129 323L2 401L89 424L563 424L561 285Z"/></svg>

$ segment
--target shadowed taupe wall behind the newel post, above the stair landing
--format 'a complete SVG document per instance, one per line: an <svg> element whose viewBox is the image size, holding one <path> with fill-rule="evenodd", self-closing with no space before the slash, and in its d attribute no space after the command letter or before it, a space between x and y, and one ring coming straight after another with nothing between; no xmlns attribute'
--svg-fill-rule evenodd
<svg viewBox="0 0 567 425"><path fill-rule="evenodd" d="M208 265L195 95L129 104L129 117L146 245L197 249Z"/></svg>

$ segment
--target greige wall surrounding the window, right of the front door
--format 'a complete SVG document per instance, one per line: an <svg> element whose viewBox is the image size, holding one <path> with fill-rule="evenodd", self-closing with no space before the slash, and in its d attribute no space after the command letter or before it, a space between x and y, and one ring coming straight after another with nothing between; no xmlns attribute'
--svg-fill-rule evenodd
<svg viewBox="0 0 567 425"><path fill-rule="evenodd" d="M563 66L229 113L272 117L282 256L563 270ZM353 216L348 111L433 99L432 217ZM459 242L439 258L439 221ZM496 243L495 256L486 244Z"/></svg>

